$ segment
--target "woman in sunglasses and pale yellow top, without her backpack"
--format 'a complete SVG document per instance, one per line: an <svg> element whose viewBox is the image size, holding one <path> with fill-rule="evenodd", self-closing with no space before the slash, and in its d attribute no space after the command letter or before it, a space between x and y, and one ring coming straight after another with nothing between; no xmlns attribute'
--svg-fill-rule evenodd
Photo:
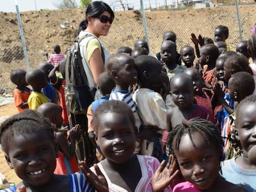
<svg viewBox="0 0 256 192"><path fill-rule="evenodd" d="M79 37L88 34L80 42L80 52L90 88L97 87L98 77L105 71L105 62L109 54L98 38L108 35L113 20L114 12L108 4L93 1L87 7L85 20L79 25ZM100 99L100 97L100 92L97 90L95 99Z"/></svg>

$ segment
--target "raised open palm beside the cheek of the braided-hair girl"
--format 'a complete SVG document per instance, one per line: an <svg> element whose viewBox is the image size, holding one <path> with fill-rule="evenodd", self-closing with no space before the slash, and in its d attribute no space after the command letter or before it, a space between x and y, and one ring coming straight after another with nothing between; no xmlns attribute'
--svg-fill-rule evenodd
<svg viewBox="0 0 256 192"><path fill-rule="evenodd" d="M162 161L153 175L151 181L153 191L163 191L164 188L168 187L174 181L178 173L179 170L176 169L174 157L170 155L168 164L166 164L166 161Z"/></svg>

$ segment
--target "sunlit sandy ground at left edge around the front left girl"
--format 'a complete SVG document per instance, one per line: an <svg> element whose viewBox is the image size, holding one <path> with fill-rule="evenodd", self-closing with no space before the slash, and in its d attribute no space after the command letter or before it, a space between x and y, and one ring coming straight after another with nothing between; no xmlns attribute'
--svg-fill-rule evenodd
<svg viewBox="0 0 256 192"><path fill-rule="evenodd" d="M6 117L16 114L18 111L14 104L7 104L0 107L0 117ZM16 176L13 169L10 169L6 163L4 152L0 150L0 172L6 177L7 182L19 183L20 179Z"/></svg>

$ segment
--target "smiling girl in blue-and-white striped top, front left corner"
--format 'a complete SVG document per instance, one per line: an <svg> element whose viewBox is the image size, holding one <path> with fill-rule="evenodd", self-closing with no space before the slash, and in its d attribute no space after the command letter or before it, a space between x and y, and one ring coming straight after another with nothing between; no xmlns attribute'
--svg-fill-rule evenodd
<svg viewBox="0 0 256 192"><path fill-rule="evenodd" d="M22 188L12 186L3 191L108 191L102 173L98 177L80 163L83 174L56 175L57 145L49 120L34 110L27 109L1 124L0 141L7 164L22 180ZM85 178L85 176L87 178ZM100 179L99 179L100 178Z"/></svg>

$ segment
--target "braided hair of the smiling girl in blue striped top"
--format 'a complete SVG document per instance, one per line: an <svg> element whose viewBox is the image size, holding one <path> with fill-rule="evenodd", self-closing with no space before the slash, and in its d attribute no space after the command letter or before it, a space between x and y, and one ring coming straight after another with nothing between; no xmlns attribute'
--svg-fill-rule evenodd
<svg viewBox="0 0 256 192"><path fill-rule="evenodd" d="M9 143L14 135L24 135L39 130L48 131L50 138L54 141L53 126L48 119L37 111L26 109L19 114L9 117L0 125L0 143L2 150L6 154L9 152Z"/></svg>

